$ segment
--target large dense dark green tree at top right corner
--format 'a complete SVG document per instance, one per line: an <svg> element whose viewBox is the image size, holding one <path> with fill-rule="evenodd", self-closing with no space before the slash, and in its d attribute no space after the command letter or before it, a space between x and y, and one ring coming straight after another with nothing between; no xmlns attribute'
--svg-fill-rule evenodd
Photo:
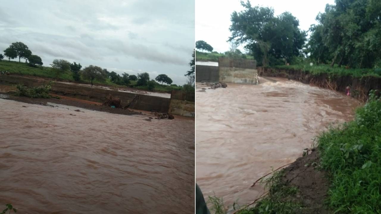
<svg viewBox="0 0 381 214"><path fill-rule="evenodd" d="M311 26L307 53L317 63L330 61L357 68L372 68L381 61L381 2L335 0Z"/></svg>

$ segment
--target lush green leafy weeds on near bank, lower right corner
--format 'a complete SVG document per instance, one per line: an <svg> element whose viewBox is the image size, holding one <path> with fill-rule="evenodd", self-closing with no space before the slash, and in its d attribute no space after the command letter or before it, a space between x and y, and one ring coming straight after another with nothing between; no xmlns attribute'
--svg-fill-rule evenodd
<svg viewBox="0 0 381 214"><path fill-rule="evenodd" d="M381 101L371 91L355 120L321 134L321 165L329 172L335 213L381 212Z"/></svg>

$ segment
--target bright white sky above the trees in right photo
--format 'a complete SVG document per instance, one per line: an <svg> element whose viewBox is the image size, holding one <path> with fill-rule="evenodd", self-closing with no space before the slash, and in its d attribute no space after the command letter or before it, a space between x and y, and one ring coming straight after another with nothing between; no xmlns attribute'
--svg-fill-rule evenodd
<svg viewBox="0 0 381 214"><path fill-rule="evenodd" d="M250 2L252 6L274 8L275 16L289 11L299 19L299 28L302 30L308 30L311 24L317 24L315 18L319 12L324 12L327 3L335 3L334 0L251 0ZM196 41L204 40L214 48L213 51L228 51L229 44L226 41L231 36L229 31L231 14L233 11L238 12L243 9L240 0L196 0ZM243 51L242 46L239 49Z"/></svg>

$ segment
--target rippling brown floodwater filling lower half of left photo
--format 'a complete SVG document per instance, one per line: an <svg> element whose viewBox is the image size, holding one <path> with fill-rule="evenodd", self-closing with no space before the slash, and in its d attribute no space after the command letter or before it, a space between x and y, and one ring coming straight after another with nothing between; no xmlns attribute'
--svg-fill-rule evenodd
<svg viewBox="0 0 381 214"><path fill-rule="evenodd" d="M194 120L76 109L0 99L0 209L194 213Z"/></svg>

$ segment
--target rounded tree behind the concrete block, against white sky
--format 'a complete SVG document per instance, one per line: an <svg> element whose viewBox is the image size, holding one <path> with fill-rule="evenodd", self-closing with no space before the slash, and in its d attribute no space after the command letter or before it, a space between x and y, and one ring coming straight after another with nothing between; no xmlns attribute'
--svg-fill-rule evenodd
<svg viewBox="0 0 381 214"><path fill-rule="evenodd" d="M252 7L249 1L241 4L245 10L231 14L229 42L246 44L245 49L264 66L287 63L301 54L306 32L299 29L299 21L291 13L274 16L273 8Z"/></svg>

